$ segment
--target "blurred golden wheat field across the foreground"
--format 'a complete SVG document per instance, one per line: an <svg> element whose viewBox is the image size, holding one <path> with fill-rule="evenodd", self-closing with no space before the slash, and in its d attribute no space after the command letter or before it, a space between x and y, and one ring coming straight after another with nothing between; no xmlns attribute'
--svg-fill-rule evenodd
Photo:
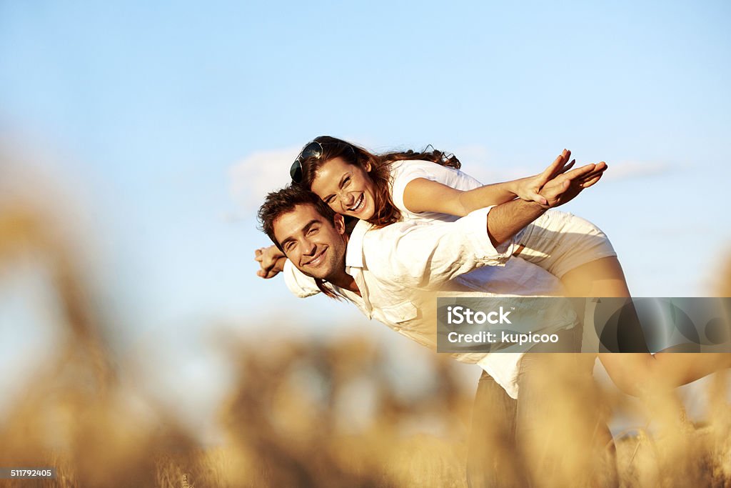
<svg viewBox="0 0 731 488"><path fill-rule="evenodd" d="M435 354L429 394L404 397L365 337L289 340L276 348L223 341L221 353L238 379L219 407L225 432L219 446L204 446L196 432L154 402L140 410L129 399L142 395L124 382L124 370L105 343L110 326L96 313L94 290L80 272L73 243L53 233L58 216L34 209L22 200L0 202L0 269L12 271L18 260L42 257L61 304L53 323L63 339L58 355L32 378L33 388L14 399L1 419L0 467L53 467L58 476L0 480L0 487L467 486L474 390L465 390L450 360ZM12 273L0 279L12 279ZM722 286L727 295L731 274ZM621 485L731 486L727 383L725 375L716 375L703 426L686 420L671 392L643 398L654 419L652 432L624 432L614 442ZM565 414L545 425L543 435L550 435L558 455L550 472L534 478L536 486L586 486L580 472L585 466L577 462L582 454L564 433L575 432L593 409L609 417L629 408L616 392L569 387L545 399ZM566 391L586 399L586 408L563 408ZM352 402L363 398L371 408L354 421ZM414 426L425 424L438 425L439 434L414 433ZM531 462L521 456L510 451L502 459L516 467Z"/></svg>

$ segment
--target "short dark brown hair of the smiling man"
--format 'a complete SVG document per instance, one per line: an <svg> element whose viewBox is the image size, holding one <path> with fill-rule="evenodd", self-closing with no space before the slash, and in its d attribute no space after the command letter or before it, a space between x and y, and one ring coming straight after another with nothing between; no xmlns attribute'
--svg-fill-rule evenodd
<svg viewBox="0 0 731 488"><path fill-rule="evenodd" d="M308 204L314 206L317 213L325 217L327 222L332 224L335 221L335 212L327 206L327 203L298 184L290 184L267 195L264 204L259 209L259 214L257 214L260 224L259 229L263 230L274 245L284 252L279 241L274 237L274 221L281 215L293 211L296 206Z"/></svg>

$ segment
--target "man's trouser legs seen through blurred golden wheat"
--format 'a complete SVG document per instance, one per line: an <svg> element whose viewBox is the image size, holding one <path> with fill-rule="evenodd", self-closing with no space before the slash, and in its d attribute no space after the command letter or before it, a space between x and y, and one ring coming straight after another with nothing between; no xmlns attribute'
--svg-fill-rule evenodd
<svg viewBox="0 0 731 488"><path fill-rule="evenodd" d="M559 342L580 347L580 329ZM617 486L611 439L593 395L594 356L550 353L540 344L520 361L518 400L487 373L477 386L469 439L470 488ZM582 481L583 480L583 481Z"/></svg>

